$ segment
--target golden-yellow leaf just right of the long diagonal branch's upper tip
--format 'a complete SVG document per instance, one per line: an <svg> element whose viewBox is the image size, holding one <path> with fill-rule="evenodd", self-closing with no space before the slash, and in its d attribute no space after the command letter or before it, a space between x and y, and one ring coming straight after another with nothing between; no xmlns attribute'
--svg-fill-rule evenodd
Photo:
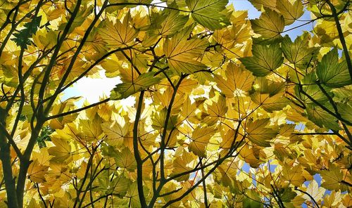
<svg viewBox="0 0 352 208"><path fill-rule="evenodd" d="M249 141L262 147L270 147L269 141L275 138L278 132L273 129L265 128L269 122L270 119L257 119L255 122L252 122L250 119L246 124L246 132Z"/></svg>

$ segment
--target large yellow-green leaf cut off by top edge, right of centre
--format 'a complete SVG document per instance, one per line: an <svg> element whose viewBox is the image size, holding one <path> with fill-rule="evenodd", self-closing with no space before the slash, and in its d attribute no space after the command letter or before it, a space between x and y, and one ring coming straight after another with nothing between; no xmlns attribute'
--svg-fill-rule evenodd
<svg viewBox="0 0 352 208"><path fill-rule="evenodd" d="M210 30L218 30L230 24L227 17L221 13L227 3L228 0L186 0L192 18Z"/></svg>

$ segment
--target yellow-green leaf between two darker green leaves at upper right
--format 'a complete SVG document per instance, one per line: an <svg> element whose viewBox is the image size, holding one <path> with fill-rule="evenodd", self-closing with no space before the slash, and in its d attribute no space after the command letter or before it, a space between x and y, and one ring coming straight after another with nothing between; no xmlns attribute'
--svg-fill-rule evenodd
<svg viewBox="0 0 352 208"><path fill-rule="evenodd" d="M292 43L288 35L282 40L282 51L285 58L296 67L306 70L307 66L315 60L318 48L308 48L310 35L308 33L298 37Z"/></svg>

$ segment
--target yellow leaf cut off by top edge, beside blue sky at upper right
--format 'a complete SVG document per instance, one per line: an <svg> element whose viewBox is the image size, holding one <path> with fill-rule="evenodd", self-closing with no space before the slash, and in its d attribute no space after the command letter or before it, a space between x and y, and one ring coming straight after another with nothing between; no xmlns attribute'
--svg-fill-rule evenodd
<svg viewBox="0 0 352 208"><path fill-rule="evenodd" d="M294 4L291 4L289 0L279 0L276 8L284 16L285 25L291 25L304 13L301 0L294 1Z"/></svg>

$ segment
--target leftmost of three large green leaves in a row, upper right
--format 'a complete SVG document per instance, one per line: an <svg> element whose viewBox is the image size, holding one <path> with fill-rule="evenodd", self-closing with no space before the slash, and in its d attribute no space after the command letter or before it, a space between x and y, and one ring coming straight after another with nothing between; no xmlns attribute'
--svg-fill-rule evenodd
<svg viewBox="0 0 352 208"><path fill-rule="evenodd" d="M247 70L257 77L264 77L280 67L284 61L279 44L253 45L252 57L240 58Z"/></svg>

